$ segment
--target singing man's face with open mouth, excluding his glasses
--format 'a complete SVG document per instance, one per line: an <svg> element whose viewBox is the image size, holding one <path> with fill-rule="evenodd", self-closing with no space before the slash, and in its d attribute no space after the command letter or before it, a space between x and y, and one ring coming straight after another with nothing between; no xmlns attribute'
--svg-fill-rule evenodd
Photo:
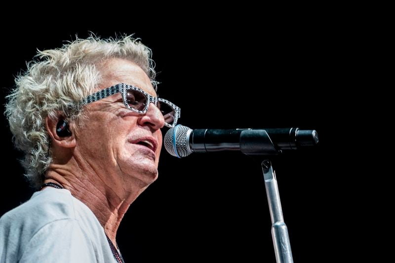
<svg viewBox="0 0 395 263"><path fill-rule="evenodd" d="M98 90L126 83L157 96L149 77L133 62L115 58L98 68L103 78ZM137 182L145 187L158 177L163 125L154 104L145 114L135 113L117 93L87 105L87 118L77 127L76 150L106 184L128 188Z"/></svg>

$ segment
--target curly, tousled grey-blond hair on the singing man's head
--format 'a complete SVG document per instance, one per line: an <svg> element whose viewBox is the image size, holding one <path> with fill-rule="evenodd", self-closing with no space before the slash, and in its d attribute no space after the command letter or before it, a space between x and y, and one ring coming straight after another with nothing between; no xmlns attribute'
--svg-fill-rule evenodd
<svg viewBox="0 0 395 263"><path fill-rule="evenodd" d="M156 89L151 49L139 40L132 36L77 38L62 48L38 51L38 59L29 62L27 71L15 78L16 87L7 96L5 115L15 147L25 153L21 163L33 187L43 183L52 161L45 118L56 118L59 111L70 119L81 115L79 102L93 93L101 81L96 64L109 58L133 61Z"/></svg>

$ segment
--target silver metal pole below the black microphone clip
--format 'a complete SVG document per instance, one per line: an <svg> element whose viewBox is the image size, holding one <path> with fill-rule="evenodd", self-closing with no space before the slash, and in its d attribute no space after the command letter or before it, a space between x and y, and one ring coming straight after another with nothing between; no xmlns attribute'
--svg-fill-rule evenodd
<svg viewBox="0 0 395 263"><path fill-rule="evenodd" d="M293 263L288 228L282 216L276 173L273 171L272 163L269 160L262 162L262 170L269 202L270 217L272 219L272 238L275 247L276 262Z"/></svg>

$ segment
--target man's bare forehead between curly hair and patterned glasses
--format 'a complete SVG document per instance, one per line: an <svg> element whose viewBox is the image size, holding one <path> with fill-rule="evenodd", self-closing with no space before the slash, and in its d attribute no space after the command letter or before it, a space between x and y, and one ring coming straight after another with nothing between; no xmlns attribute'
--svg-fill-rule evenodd
<svg viewBox="0 0 395 263"><path fill-rule="evenodd" d="M157 96L148 75L134 62L121 58L112 58L98 65L102 75L99 90L118 83L126 83L141 88L152 96Z"/></svg>

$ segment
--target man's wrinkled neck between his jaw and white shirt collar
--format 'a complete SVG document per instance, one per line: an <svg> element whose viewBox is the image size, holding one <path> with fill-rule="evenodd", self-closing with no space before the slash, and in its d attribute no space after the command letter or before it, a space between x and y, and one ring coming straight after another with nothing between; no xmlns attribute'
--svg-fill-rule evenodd
<svg viewBox="0 0 395 263"><path fill-rule="evenodd" d="M69 168L69 169L68 169ZM127 189L122 184L108 184L100 180L97 173L89 169L76 169L65 165L51 164L44 183L54 182L70 190L71 194L83 202L97 217L105 233L116 244L118 226L130 204L148 185L137 179L130 179ZM111 176L106 175L106 178ZM115 178L115 177L113 177Z"/></svg>

